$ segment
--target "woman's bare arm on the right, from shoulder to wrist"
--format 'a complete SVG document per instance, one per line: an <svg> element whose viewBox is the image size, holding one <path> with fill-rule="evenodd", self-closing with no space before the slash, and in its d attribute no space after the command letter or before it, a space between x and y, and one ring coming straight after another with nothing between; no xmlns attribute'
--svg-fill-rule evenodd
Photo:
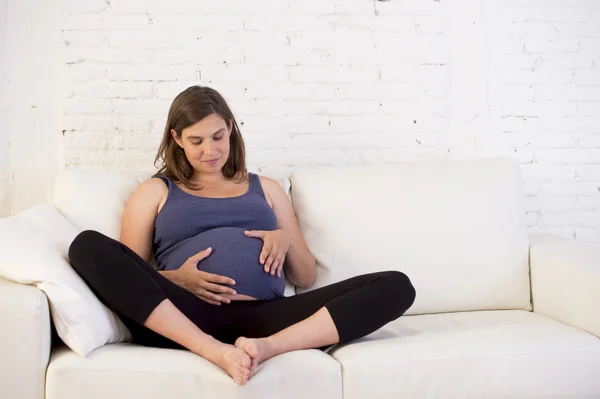
<svg viewBox="0 0 600 399"><path fill-rule="evenodd" d="M301 288L310 288L316 279L316 261L298 228L298 221L290 199L275 180L260 176L265 195L277 217L277 225L285 230L290 238L290 248L286 255L285 272L288 279Z"/></svg>

